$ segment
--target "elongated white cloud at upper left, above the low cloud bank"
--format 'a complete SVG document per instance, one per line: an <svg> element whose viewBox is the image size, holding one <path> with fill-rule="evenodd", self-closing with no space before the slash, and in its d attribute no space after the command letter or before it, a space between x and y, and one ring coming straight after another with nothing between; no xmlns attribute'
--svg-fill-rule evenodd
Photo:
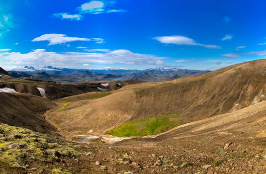
<svg viewBox="0 0 266 174"><path fill-rule="evenodd" d="M81 38L81 37L68 37L65 34L44 34L32 40L36 41L49 41L48 45L56 45L73 41L94 41L95 43L103 43L101 38Z"/></svg>

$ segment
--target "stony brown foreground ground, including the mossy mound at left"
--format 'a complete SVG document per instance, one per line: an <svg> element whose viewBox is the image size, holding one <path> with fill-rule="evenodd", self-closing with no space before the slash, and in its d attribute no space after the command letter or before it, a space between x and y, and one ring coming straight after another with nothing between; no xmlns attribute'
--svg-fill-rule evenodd
<svg viewBox="0 0 266 174"><path fill-rule="evenodd" d="M8 129L1 127L1 130L0 154L9 152L7 154L11 160L8 162L6 161L8 158L1 157L1 174L266 173L266 141L264 138L209 134L160 142L144 139L141 141L127 140L113 145L98 141L75 144L29 130L27 132L27 129L22 128L10 129L8 126ZM12 130L12 133L8 130ZM46 142L49 146L42 147L43 143L36 143L32 137L37 137L35 139ZM8 145L4 146L4 141ZM24 146L20 147L20 144ZM35 154L37 148L39 155ZM20 158L16 158L15 154L20 154Z"/></svg>

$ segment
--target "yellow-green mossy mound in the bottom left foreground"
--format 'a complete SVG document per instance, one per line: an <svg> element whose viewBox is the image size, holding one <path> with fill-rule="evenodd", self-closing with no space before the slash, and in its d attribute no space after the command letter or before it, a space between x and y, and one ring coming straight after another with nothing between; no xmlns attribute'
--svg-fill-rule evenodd
<svg viewBox="0 0 266 174"><path fill-rule="evenodd" d="M31 161L55 162L81 155L73 144L29 129L0 123L0 161L30 168Z"/></svg>

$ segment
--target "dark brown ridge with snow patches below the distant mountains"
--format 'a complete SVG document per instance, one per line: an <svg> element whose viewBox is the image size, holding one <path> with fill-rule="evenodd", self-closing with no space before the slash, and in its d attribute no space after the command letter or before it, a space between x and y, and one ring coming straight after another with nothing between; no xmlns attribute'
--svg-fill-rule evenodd
<svg viewBox="0 0 266 174"><path fill-rule="evenodd" d="M39 73L44 77L50 76L45 72ZM45 78L42 80L32 78L12 78L8 75L0 77L0 88L11 88L16 92L30 93L37 96L43 96L50 100L58 99L62 97L78 95L86 92L93 91L110 91L121 88L129 84L143 83L141 81L128 80L128 81L97 81L88 82L82 84L56 84L53 81L46 81ZM108 84L102 86L101 84ZM120 84L120 85L119 85ZM41 94L40 89L45 92L45 96Z"/></svg>

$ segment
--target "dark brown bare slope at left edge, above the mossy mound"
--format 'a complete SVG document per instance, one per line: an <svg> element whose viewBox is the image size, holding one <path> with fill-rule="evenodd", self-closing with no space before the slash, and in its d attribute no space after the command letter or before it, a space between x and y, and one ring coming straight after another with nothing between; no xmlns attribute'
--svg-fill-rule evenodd
<svg viewBox="0 0 266 174"><path fill-rule="evenodd" d="M41 133L57 132L42 113L57 105L45 98L30 94L0 92L0 122L28 128Z"/></svg>

